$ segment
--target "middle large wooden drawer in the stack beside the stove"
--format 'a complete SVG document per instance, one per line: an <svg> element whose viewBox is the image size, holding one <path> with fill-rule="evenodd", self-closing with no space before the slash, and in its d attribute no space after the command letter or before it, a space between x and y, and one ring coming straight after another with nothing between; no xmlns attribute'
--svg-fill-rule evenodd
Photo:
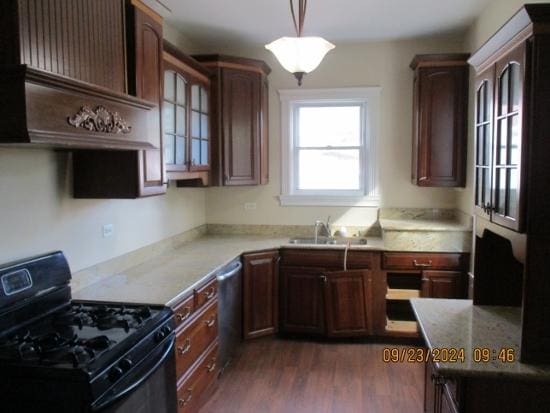
<svg viewBox="0 0 550 413"><path fill-rule="evenodd" d="M176 336L176 374L184 375L218 336L218 303L214 301Z"/></svg>

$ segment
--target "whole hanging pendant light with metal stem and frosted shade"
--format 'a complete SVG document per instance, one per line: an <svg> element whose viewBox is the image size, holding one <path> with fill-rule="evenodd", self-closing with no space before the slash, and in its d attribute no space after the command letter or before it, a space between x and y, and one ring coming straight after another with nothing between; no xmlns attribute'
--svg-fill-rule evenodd
<svg viewBox="0 0 550 413"><path fill-rule="evenodd" d="M286 70L294 74L298 79L298 86L302 86L304 74L315 70L325 55L334 49L334 45L322 37L302 37L306 7L307 0L299 0L296 19L294 0L290 0L290 13L297 37L281 37L265 46Z"/></svg>

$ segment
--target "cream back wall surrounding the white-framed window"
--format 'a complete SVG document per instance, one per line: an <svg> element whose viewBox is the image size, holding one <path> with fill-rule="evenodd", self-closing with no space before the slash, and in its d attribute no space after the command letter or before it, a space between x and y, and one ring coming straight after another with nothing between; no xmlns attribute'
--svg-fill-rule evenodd
<svg viewBox="0 0 550 413"><path fill-rule="evenodd" d="M378 162L383 206L453 208L457 205L456 190L419 188L410 182L413 72L409 64L415 54L462 52L462 46L462 36L337 44L319 68L304 78L303 88L382 87ZM373 223L376 208L279 205L276 197L281 187L281 142L277 90L296 88L296 82L261 46L253 50L223 50L223 53L263 59L273 69L269 76L270 183L250 188L209 188L208 223L311 224L327 215L340 224ZM256 202L257 209L245 211L245 202Z"/></svg>

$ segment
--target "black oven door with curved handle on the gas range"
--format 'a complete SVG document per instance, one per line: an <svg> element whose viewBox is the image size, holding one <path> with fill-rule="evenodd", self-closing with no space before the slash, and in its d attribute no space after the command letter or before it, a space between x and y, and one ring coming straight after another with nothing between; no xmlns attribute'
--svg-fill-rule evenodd
<svg viewBox="0 0 550 413"><path fill-rule="evenodd" d="M176 412L175 335L172 333L93 405L101 413Z"/></svg>

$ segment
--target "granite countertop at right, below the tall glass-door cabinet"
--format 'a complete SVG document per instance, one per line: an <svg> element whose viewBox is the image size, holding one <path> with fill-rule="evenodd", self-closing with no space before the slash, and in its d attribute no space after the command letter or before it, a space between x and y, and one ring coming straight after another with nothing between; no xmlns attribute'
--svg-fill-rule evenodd
<svg viewBox="0 0 550 413"><path fill-rule="evenodd" d="M414 298L411 304L431 350L464 349L464 362L435 363L438 373L443 376L550 380L550 365L518 361L521 308L474 306L471 300L435 298ZM474 361L474 349L489 349L490 361ZM513 349L515 360L500 361L501 349Z"/></svg>

